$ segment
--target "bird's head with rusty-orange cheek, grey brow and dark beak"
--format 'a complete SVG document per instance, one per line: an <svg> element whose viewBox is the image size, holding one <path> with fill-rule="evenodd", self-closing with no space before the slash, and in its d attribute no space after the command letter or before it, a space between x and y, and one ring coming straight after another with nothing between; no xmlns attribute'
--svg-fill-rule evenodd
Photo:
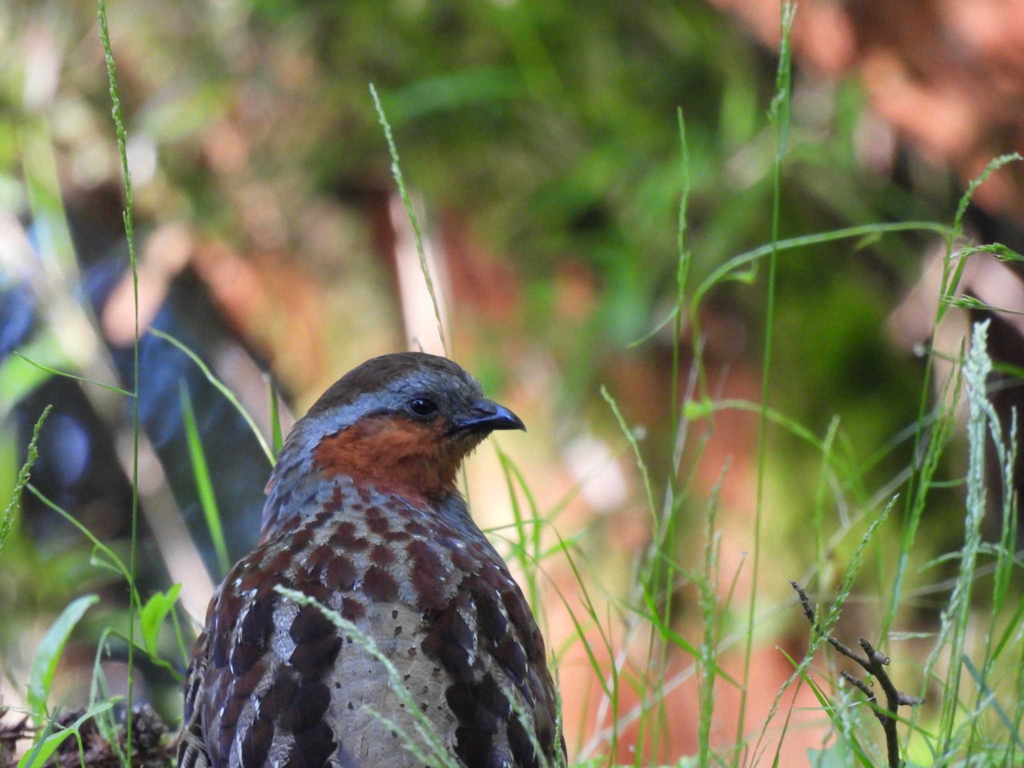
<svg viewBox="0 0 1024 768"><path fill-rule="evenodd" d="M452 360L398 352L339 379L295 425L285 450L302 451L324 475L435 500L455 490L462 460L496 429L525 427Z"/></svg>

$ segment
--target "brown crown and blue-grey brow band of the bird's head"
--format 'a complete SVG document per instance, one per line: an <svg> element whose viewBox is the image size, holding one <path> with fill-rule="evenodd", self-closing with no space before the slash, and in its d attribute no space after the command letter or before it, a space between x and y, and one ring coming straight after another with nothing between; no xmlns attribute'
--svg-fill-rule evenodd
<svg viewBox="0 0 1024 768"><path fill-rule="evenodd" d="M424 421L464 417L482 397L479 382L450 359L424 352L385 354L339 379L295 425L289 441L301 433L308 444L380 414Z"/></svg>

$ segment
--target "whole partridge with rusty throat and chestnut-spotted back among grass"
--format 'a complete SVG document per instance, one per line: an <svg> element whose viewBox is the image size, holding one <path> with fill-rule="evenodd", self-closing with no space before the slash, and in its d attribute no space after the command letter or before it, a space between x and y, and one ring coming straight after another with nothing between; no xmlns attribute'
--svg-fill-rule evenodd
<svg viewBox="0 0 1024 768"><path fill-rule="evenodd" d="M457 489L495 430L525 430L459 365L374 357L296 422L266 484L257 548L214 592L184 681L178 768L419 768L393 665L465 768L564 764L544 638Z"/></svg>

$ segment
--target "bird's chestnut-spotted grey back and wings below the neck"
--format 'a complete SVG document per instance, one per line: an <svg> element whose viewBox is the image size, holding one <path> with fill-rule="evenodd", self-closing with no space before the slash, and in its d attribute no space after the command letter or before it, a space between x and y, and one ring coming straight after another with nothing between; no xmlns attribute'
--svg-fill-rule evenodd
<svg viewBox="0 0 1024 768"><path fill-rule="evenodd" d="M185 684L179 768L423 765L369 711L427 749L383 665L276 585L369 636L467 768L537 766L534 735L556 764L564 746L544 641L461 498L414 503L339 476L310 483L301 509L210 603Z"/></svg>

